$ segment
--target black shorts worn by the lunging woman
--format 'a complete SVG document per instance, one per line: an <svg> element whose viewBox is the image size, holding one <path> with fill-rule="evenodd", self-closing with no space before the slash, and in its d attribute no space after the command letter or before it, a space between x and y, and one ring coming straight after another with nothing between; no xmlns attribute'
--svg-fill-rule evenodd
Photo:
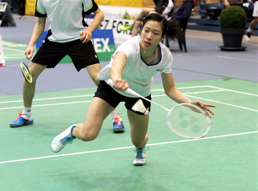
<svg viewBox="0 0 258 191"><path fill-rule="evenodd" d="M133 111L132 107L136 103L136 101L138 101L138 99L141 99L143 101L145 108L147 108L148 111L150 112L150 102L142 98L123 96L120 93L116 92L111 86L109 86L103 80L100 80L100 83L98 85L98 88L97 88L97 91L95 92L94 97L98 97L105 100L109 105L111 105L114 108L116 108L120 102L124 101L125 102L124 106L126 107L126 109L129 109L131 111ZM151 100L150 95L147 96L146 98ZM143 113L138 111L133 111L133 112L139 115L144 115Z"/></svg>

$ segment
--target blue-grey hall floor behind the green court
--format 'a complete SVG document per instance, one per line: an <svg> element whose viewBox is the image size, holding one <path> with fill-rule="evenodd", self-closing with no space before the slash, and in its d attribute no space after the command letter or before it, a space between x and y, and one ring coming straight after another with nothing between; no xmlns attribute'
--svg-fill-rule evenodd
<svg viewBox="0 0 258 191"><path fill-rule="evenodd" d="M3 40L28 43L36 21L15 19L17 27L1 27ZM48 24L46 30L48 29ZM202 31L200 31L201 35ZM172 73L175 82L236 78L257 82L257 44L247 46L243 52L221 51L223 42L214 40L186 39L188 52L179 50L177 43L171 44L173 54ZM0 94L21 94L24 78L20 62L7 62L0 67ZM101 62L103 68L109 61ZM161 83L161 75L154 76L154 83ZM36 92L95 88L86 69L77 72L72 63L58 64L46 69L39 76Z"/></svg>

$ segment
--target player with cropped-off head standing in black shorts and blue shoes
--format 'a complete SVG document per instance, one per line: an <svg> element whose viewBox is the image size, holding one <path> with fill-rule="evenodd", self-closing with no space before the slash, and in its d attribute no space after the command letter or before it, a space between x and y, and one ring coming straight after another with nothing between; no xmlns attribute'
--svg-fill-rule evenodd
<svg viewBox="0 0 258 191"><path fill-rule="evenodd" d="M95 14L92 23L88 26L84 21L85 14ZM97 74L101 66L91 42L91 33L103 21L104 14L94 0L38 0L36 2L35 16L38 22L34 26L28 48L25 51L26 58L34 52L34 44L42 35L46 18L50 21L51 28L48 31L45 42L35 54L30 64L30 73L33 82L23 84L24 110L10 123L10 127L31 125L34 121L31 115L32 99L35 93L36 80L45 68L54 68L64 56L69 55L79 72L86 68L91 79L99 84ZM123 120L117 114L116 109L111 113L114 132L124 131Z"/></svg>

